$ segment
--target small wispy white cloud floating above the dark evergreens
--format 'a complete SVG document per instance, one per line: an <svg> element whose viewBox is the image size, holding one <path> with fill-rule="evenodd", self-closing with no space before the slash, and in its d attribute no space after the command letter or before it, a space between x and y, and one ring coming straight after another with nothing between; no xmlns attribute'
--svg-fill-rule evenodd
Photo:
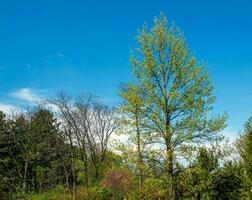
<svg viewBox="0 0 252 200"><path fill-rule="evenodd" d="M29 101L31 103L40 102L42 100L42 98L39 95L37 95L34 91L32 91L32 89L30 88L22 88L16 90L11 93L11 96L17 99Z"/></svg>

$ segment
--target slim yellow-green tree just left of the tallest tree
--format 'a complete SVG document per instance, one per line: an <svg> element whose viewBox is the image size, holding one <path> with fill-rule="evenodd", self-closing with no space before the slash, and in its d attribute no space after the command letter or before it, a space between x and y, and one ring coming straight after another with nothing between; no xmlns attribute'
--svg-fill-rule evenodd
<svg viewBox="0 0 252 200"><path fill-rule="evenodd" d="M144 112L144 92L142 88L133 84L122 84L119 90L119 95L123 99L119 107L119 115L121 128L119 133L126 134L129 137L131 148L121 148L127 157L133 157L136 161L136 171L138 177L138 189L143 186L144 180L144 160L147 158L147 150L151 144L151 135L145 112ZM145 126L144 126L145 124Z"/></svg>

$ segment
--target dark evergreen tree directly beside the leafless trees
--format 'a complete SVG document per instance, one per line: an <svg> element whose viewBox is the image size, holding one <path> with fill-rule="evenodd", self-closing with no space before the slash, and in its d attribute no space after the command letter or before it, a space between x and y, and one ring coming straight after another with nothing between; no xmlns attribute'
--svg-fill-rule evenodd
<svg viewBox="0 0 252 200"><path fill-rule="evenodd" d="M36 177L36 190L41 192L57 182L53 173L59 161L55 148L59 123L52 112L38 107L31 113L28 133L32 137L32 173Z"/></svg>

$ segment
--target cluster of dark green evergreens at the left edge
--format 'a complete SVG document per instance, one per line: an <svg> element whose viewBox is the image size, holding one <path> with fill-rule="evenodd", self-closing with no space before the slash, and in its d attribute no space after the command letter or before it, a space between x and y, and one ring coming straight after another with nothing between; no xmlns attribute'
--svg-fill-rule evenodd
<svg viewBox="0 0 252 200"><path fill-rule="evenodd" d="M37 108L7 118L2 113L1 175L6 194L44 191L58 184L60 162L54 143L59 137L53 114ZM4 159L5 155L5 159Z"/></svg>

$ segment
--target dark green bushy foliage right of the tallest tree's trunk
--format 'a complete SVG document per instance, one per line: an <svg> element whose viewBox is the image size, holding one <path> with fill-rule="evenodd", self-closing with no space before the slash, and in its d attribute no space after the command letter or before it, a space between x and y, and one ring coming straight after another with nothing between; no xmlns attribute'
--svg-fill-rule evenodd
<svg viewBox="0 0 252 200"><path fill-rule="evenodd" d="M220 167L216 155L202 148L190 167L181 170L176 189L179 199L245 199L241 165L228 161Z"/></svg>

